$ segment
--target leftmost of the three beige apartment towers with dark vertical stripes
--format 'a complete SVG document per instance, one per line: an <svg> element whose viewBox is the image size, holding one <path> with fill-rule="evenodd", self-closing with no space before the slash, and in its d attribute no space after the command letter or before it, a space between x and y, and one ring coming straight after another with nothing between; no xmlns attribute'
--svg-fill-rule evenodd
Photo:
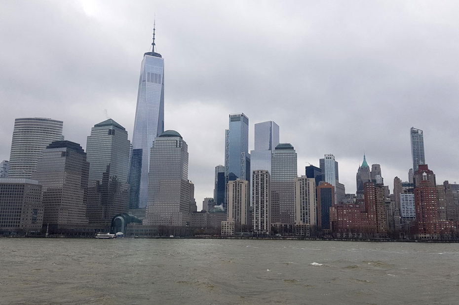
<svg viewBox="0 0 459 305"><path fill-rule="evenodd" d="M236 179L228 182L228 221L247 225L249 212L249 182Z"/></svg>

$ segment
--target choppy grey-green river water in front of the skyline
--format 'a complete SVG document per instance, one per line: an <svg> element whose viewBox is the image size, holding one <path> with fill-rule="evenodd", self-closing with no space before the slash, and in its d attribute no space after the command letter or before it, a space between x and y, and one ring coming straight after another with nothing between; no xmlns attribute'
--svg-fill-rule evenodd
<svg viewBox="0 0 459 305"><path fill-rule="evenodd" d="M0 238L0 304L459 304L459 244Z"/></svg>

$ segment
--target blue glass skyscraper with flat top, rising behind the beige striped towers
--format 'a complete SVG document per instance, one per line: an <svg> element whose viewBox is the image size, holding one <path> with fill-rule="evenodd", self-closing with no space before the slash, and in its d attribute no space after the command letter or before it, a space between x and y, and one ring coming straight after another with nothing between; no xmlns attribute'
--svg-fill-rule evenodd
<svg viewBox="0 0 459 305"><path fill-rule="evenodd" d="M229 114L225 140L227 181L237 178L250 180L249 118L245 114Z"/></svg>

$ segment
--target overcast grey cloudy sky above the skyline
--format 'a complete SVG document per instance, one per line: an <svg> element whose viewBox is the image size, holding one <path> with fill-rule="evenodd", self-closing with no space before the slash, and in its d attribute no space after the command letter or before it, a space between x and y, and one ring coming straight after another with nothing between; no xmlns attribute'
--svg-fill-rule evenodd
<svg viewBox="0 0 459 305"><path fill-rule="evenodd" d="M456 1L0 0L0 160L17 117L63 120L83 149L107 118L131 140L156 19L165 129L188 144L198 209L230 113L249 117L249 150L275 121L299 175L333 153L347 193L364 153L391 191L408 180L412 126L437 184L459 182L457 16Z"/></svg>

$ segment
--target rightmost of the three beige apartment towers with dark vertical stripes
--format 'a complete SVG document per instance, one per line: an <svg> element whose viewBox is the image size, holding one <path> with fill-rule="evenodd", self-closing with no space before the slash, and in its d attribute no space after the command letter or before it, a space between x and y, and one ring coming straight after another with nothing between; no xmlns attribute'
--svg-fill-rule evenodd
<svg viewBox="0 0 459 305"><path fill-rule="evenodd" d="M315 226L316 212L315 179L306 176L295 178L295 224Z"/></svg>

